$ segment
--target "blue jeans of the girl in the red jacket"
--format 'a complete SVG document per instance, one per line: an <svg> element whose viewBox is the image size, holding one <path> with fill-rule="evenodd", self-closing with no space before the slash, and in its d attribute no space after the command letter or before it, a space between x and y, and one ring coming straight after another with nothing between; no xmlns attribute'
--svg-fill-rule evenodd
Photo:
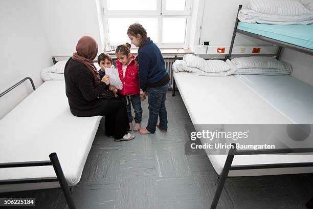
<svg viewBox="0 0 313 209"><path fill-rule="evenodd" d="M126 105L129 122L135 119L136 123L141 123L142 108L141 108L140 94L128 95L128 96L123 95L123 101L125 102L125 105ZM133 110L135 111L135 118L132 117L131 115L130 103L132 105Z"/></svg>

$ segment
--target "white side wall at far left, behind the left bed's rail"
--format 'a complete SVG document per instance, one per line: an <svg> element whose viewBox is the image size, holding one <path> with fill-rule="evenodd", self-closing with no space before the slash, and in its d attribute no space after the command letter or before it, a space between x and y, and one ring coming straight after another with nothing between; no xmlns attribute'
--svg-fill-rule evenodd
<svg viewBox="0 0 313 209"><path fill-rule="evenodd" d="M41 85L40 72L52 65L35 0L0 0L0 91L24 77ZM0 98L0 118L32 92L26 81ZM18 119L18 118L16 118Z"/></svg>

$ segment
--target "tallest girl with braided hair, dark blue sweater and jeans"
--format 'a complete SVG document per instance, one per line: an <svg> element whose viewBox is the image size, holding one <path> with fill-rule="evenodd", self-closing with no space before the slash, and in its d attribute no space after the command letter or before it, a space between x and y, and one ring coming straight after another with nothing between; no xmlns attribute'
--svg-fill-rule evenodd
<svg viewBox="0 0 313 209"><path fill-rule="evenodd" d="M157 45L147 37L142 25L135 23L129 26L127 35L131 43L138 47L139 85L147 92L149 103L149 120L147 128L139 130L140 134L152 134L155 127L167 131L167 112L165 107L166 93L170 78L165 69L165 62ZM160 117L160 123L158 123Z"/></svg>

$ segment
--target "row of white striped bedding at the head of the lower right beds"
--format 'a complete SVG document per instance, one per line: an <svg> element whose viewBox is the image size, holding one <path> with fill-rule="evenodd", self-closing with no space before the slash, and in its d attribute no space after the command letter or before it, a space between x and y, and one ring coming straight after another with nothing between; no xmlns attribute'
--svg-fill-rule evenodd
<svg viewBox="0 0 313 209"><path fill-rule="evenodd" d="M186 54L183 60L175 60L173 71L187 71L202 76L289 75L292 72L292 67L274 57L240 57L224 62L222 60L205 60L192 54Z"/></svg>

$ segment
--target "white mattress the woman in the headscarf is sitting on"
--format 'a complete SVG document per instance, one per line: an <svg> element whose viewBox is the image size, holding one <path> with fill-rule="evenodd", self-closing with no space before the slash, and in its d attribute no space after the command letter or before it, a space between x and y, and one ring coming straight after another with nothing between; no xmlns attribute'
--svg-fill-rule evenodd
<svg viewBox="0 0 313 209"><path fill-rule="evenodd" d="M76 185L102 116L75 117L65 82L44 82L0 120L0 163L50 160L56 152L69 185ZM0 169L0 180L56 177L52 166ZM0 192L41 189L58 183L4 185Z"/></svg>

